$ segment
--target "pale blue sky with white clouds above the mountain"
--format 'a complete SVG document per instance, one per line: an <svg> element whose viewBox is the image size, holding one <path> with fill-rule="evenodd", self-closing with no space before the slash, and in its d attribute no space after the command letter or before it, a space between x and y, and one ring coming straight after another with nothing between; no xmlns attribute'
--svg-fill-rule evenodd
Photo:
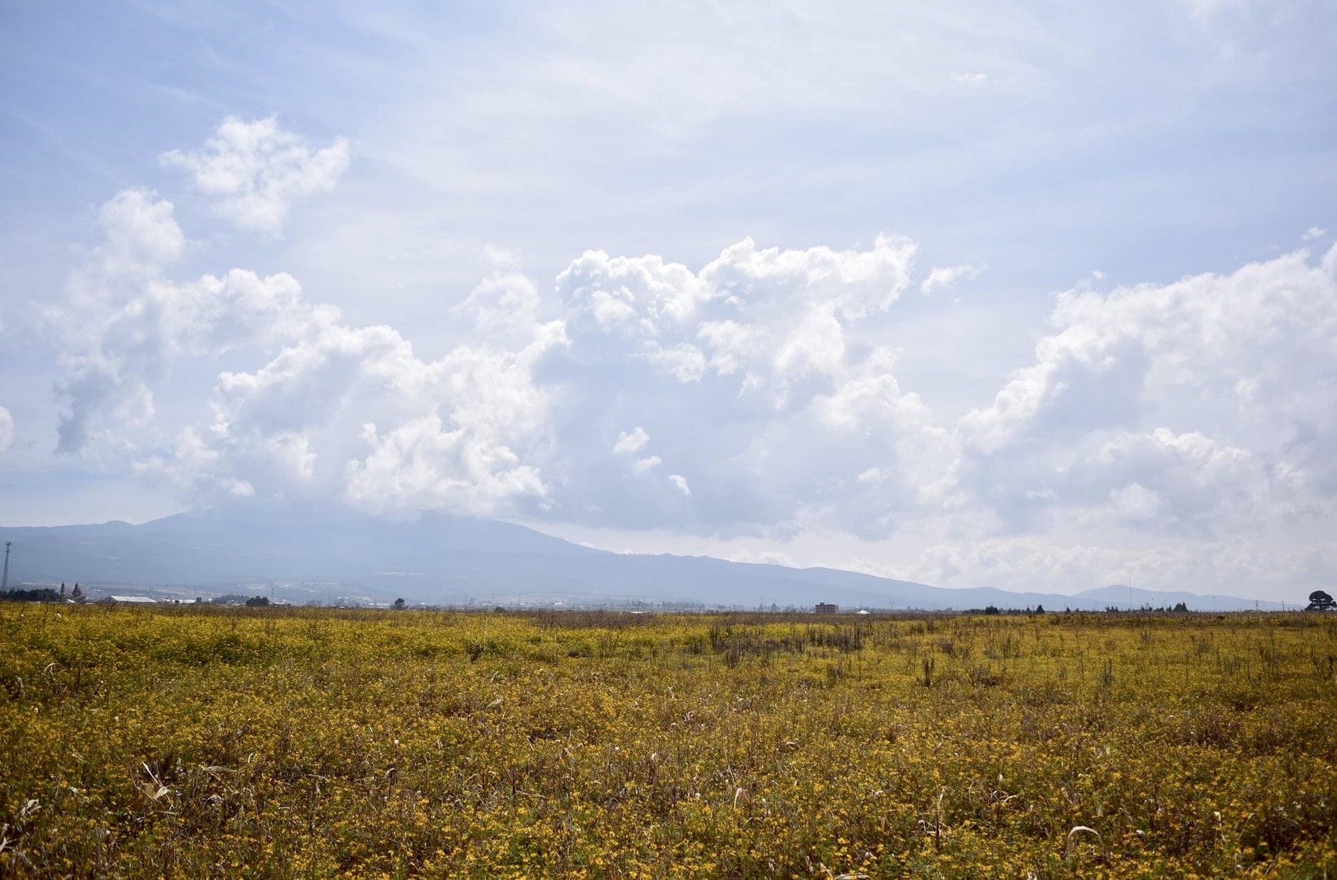
<svg viewBox="0 0 1337 880"><path fill-rule="evenodd" d="M0 524L1337 586L1337 7L0 3Z"/></svg>

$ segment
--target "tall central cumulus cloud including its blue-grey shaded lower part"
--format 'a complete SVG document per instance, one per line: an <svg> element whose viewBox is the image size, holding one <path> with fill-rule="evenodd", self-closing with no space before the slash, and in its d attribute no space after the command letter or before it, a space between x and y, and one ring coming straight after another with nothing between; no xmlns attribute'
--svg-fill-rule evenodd
<svg viewBox="0 0 1337 880"><path fill-rule="evenodd" d="M745 530L820 518L880 534L943 503L952 437L902 392L894 352L868 341L894 320L915 251L889 237L868 250L745 239L697 271L658 255L574 261L558 277L570 360L554 370L578 389L558 427L572 515ZM616 449L655 437L640 469L673 468L677 491L632 492L582 452L607 443L588 432L608 421L639 428ZM870 467L889 480L860 483Z"/></svg>

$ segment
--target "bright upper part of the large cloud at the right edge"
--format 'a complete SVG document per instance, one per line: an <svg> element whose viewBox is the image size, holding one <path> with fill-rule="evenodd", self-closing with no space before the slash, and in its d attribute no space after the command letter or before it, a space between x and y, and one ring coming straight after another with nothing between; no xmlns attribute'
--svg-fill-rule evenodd
<svg viewBox="0 0 1337 880"><path fill-rule="evenodd" d="M1036 362L1016 370L991 407L967 416L963 431L997 448L1059 408L1084 416L1063 420L1074 431L1123 419L1130 400L1199 392L1234 404L1241 381L1255 389L1255 405L1274 411L1320 392L1337 324L1334 254L1321 266L1298 253L1230 276L1064 293L1051 317L1058 332L1038 344ZM1099 401L1098 387L1107 392Z"/></svg>

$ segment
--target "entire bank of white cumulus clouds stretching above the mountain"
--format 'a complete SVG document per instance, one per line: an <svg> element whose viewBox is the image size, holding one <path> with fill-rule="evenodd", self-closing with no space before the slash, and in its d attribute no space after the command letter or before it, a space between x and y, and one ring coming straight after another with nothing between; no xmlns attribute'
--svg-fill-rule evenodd
<svg viewBox="0 0 1337 880"><path fill-rule="evenodd" d="M168 156L262 231L348 163L346 143L313 151L273 119L227 120L203 151ZM836 534L910 550L897 566L829 563L937 583L1337 574L1330 539L1275 539L1337 519L1337 247L1167 285L1084 282L1055 297L1034 360L992 401L947 417L902 387L881 340L908 289L979 270L921 271L905 238L743 239L698 269L591 250L551 285L497 251L444 318L468 342L425 360L283 273L172 278L185 235L154 193L118 194L99 227L45 313L60 449L122 460L185 503L781 546ZM217 370L207 405L163 436L155 388L223 356L243 366Z"/></svg>

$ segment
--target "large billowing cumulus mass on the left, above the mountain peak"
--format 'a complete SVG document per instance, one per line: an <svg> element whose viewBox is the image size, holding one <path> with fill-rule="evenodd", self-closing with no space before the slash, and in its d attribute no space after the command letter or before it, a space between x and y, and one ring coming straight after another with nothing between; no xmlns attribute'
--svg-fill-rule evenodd
<svg viewBox="0 0 1337 880"><path fill-rule="evenodd" d="M476 344L424 361L398 332L348 325L282 273L170 280L183 238L152 194L119 194L100 225L103 243L45 313L64 349L60 449L130 455L139 476L197 502L495 512L544 499L532 460L551 443L550 393L532 368L564 332L537 320L529 280L484 278L453 312ZM211 417L155 443L155 387L185 358L230 352L259 366L219 373Z"/></svg>

